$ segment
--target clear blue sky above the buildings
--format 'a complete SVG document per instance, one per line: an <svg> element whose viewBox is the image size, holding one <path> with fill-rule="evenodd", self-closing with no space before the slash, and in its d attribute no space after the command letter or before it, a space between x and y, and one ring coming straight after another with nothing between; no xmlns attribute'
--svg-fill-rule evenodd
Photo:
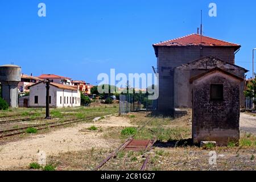
<svg viewBox="0 0 256 182"><path fill-rule="evenodd" d="M46 3L46 17L38 16L40 2ZM217 17L208 16L210 2ZM1 0L0 64L91 84L110 68L152 73L152 44L196 33L202 9L204 35L241 44L236 64L251 70L255 7L256 1Z"/></svg>

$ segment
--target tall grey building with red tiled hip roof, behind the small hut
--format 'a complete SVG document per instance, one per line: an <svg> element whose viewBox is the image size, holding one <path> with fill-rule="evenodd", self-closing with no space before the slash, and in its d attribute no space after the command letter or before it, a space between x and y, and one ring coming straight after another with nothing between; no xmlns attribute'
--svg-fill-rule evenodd
<svg viewBox="0 0 256 182"><path fill-rule="evenodd" d="M191 94L188 93L191 91L188 89L188 74L189 76L193 76L199 72L208 71L213 68L213 65L209 64L209 67L202 68L203 65L206 66L205 60L202 60L204 62L203 65L198 64L198 62L201 61L199 60L197 61L197 65L200 65L200 67L193 67L188 71L189 73L186 73L185 75L183 75L185 71L181 74L178 73L180 70L177 70L175 73L175 68L183 69L183 66L181 65L188 64L193 60L198 60L210 55L218 58L218 60L216 59L216 63L223 64L222 66L217 65L217 67L232 67L232 69L235 69L233 73L241 77L243 77L242 72L246 72L245 69L240 69L234 65L235 55L241 47L238 44L209 38L203 35L191 34L181 38L168 40L166 42L153 44L153 47L158 59L158 110L168 112L170 114L174 114L175 107L191 107L192 98ZM184 89L187 90L182 89L181 91L177 87L180 86L179 84L183 81L184 84L181 86L184 86ZM241 88L242 87L243 86L241 86ZM243 96L241 96L241 101L243 99L242 97ZM180 98L183 98L183 100L179 101ZM243 102L241 102L241 106L243 106Z"/></svg>

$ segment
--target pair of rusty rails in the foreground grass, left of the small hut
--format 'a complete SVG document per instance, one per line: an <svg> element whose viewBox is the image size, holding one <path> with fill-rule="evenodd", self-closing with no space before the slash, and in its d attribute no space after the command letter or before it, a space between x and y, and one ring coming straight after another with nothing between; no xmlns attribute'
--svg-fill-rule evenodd
<svg viewBox="0 0 256 182"><path fill-rule="evenodd" d="M151 120L150 120L151 121ZM137 133L139 133L139 131L141 131L150 121L146 122L143 126L141 126L138 130ZM98 166L96 166L93 171L97 171L98 169L100 169L102 166L104 166L110 159L114 158L115 156L117 156L117 153L119 151L124 150L129 143L134 139L135 135L133 134L129 139L127 139L124 143L122 143L121 145L119 145L108 157L106 157L104 160L102 160L102 162L100 164L98 164ZM148 143L146 149L144 150L144 154L146 154L146 152L149 152L152 149L152 146L154 146L154 143L156 142L156 138L151 139L150 142ZM143 154L143 155L144 155ZM141 171L144 171L146 169L148 160L150 159L150 154L147 155L146 160L144 161L142 167L141 167Z"/></svg>

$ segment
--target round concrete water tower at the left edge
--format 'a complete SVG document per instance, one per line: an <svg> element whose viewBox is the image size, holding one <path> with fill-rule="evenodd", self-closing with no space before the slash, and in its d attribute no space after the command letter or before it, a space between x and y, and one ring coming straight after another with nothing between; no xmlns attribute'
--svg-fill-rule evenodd
<svg viewBox="0 0 256 182"><path fill-rule="evenodd" d="M18 107L18 83L21 78L21 67L13 64L0 66L2 98L10 107Z"/></svg>

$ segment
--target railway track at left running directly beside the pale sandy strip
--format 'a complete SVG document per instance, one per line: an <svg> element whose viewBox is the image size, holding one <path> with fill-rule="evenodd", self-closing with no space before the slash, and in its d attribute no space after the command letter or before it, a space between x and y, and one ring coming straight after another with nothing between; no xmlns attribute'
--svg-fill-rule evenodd
<svg viewBox="0 0 256 182"><path fill-rule="evenodd" d="M47 128L51 128L51 127L69 125L72 123L77 123L77 122L85 121L86 119L93 119L93 118L95 118L95 116L84 118L84 119L68 119L68 120L65 120L62 122L50 122L50 123L43 123L43 124L38 124L38 125L31 125L31 126L26 126L26 127L20 127L18 129L1 130L0 138L10 137L13 135L26 133L26 129L31 128L31 127L35 128L37 130L43 130L43 129L47 129Z"/></svg>

